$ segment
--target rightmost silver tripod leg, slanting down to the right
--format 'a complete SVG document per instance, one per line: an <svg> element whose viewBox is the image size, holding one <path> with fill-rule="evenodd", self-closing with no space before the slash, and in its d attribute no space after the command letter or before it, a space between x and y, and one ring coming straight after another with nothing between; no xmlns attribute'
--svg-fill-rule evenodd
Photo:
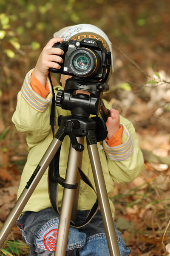
<svg viewBox="0 0 170 256"><path fill-rule="evenodd" d="M97 144L88 145L87 147L96 186L97 198L99 200L99 207L105 228L106 239L108 242L109 253L111 256L120 256Z"/></svg>

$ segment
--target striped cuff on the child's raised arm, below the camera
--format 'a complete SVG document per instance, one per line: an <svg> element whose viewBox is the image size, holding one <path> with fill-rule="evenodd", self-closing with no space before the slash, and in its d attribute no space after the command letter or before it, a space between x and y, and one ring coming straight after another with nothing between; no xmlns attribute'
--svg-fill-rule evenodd
<svg viewBox="0 0 170 256"><path fill-rule="evenodd" d="M34 90L32 89L32 87L30 85L31 74L32 74L33 70L34 69L30 70L26 74L26 78L25 78L23 86L21 88L21 95L23 96L23 98L26 100L26 102L28 102L28 104L32 108L34 108L38 112L44 112L47 109L49 103L51 102L52 96L53 96L52 90L51 90L51 83L47 77L46 82L48 84L48 88L50 89L50 93L48 94L48 96L45 99L42 98L38 93L34 92Z"/></svg>

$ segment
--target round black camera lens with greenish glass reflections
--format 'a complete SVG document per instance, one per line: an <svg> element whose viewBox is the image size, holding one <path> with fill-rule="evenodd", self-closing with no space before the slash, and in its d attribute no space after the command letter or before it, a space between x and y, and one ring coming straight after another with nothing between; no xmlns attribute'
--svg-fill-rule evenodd
<svg viewBox="0 0 170 256"><path fill-rule="evenodd" d="M88 48L72 52L68 64L71 73L79 77L95 77L102 68L99 54Z"/></svg>

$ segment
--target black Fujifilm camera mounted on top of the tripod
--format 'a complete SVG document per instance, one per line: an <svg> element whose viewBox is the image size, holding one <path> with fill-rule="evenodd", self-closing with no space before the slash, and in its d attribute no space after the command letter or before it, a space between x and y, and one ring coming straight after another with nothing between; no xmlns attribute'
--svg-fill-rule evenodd
<svg viewBox="0 0 170 256"><path fill-rule="evenodd" d="M102 41L93 38L81 42L70 40L58 42L53 47L64 51L60 55L63 63L59 63L60 69L50 68L50 72L95 80L105 78L107 65L111 63L111 52L103 47Z"/></svg>

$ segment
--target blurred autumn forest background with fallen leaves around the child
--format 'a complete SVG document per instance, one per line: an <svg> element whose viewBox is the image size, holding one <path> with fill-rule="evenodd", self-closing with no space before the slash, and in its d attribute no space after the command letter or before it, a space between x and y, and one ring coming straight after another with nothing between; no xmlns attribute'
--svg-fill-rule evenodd
<svg viewBox="0 0 170 256"><path fill-rule="evenodd" d="M0 0L0 225L16 201L26 134L11 117L17 93L53 33L91 23L113 43L114 73L104 98L136 128L145 167L115 184L118 228L130 255L170 255L170 1ZM28 255L17 227L0 255Z"/></svg>

